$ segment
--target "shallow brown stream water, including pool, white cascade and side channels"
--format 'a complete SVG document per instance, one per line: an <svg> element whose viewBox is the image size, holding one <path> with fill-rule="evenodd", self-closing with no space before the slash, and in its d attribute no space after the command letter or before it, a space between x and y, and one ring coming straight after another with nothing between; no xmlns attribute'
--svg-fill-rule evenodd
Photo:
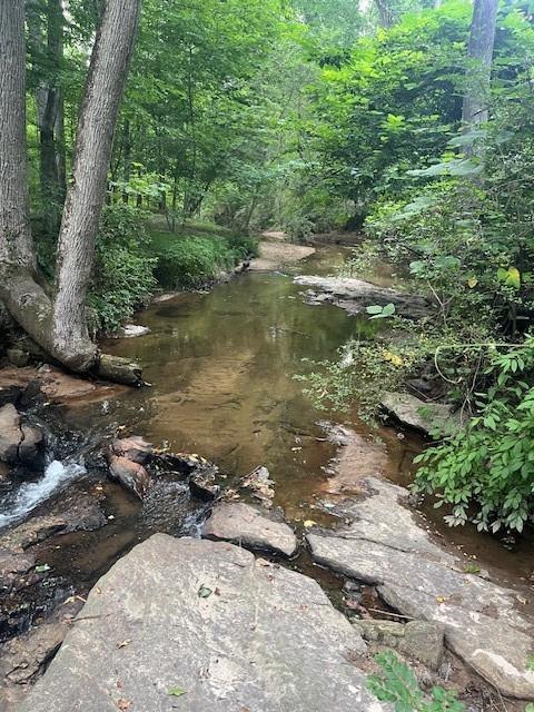
<svg viewBox="0 0 534 712"><path fill-rule="evenodd" d="M344 257L343 249L322 248L298 271L332 274ZM382 271L379 280L387 284L390 275ZM81 432L93 431L95 424L102 431L115 424L156 446L199 453L228 475L229 484L266 465L276 484L275 504L297 528L306 518L336 525L323 492L336 449L318 425L325 414L303 394L295 376L313 369L313 362L334 358L350 337L372 339L375 326L330 305L308 306L291 275L278 273L245 274L210 291L174 296L152 304L138 320L150 328L149 334L108 340L103 347L138 359L151 387L129 389L103 403L65 407L66 421ZM332 417L370 437L357 408ZM384 474L406 484L421 441L386 427L373 435L386 452ZM71 475L78 479L73 486L98 495L108 516L103 528L56 537L40 552L40 560L76 590L92 585L121 554L154 532L198 535L206 505L191 497L184 483L158 481L141 506L119 485L90 472L81 478L80 474L52 463L41 481L13 495L4 515L17 518L29 512ZM432 507L427 514L438 523ZM0 526L7 522L0 520ZM493 565L504 580L531 572L530 545L512 555L493 537L473 530L441 533Z"/></svg>

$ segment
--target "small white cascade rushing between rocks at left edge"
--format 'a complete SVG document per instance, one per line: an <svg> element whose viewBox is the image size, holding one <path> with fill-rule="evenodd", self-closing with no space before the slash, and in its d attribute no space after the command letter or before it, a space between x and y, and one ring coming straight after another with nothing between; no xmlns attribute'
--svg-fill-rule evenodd
<svg viewBox="0 0 534 712"><path fill-rule="evenodd" d="M23 518L38 504L52 496L68 482L86 473L79 463L61 463L58 459L47 465L43 476L37 482L22 484L13 495L2 503L4 510L0 513L0 528Z"/></svg>

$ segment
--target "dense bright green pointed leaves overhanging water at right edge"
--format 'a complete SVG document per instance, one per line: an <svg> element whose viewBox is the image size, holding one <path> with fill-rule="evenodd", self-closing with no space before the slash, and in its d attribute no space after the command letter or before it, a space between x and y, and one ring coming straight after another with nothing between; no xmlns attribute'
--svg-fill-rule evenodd
<svg viewBox="0 0 534 712"><path fill-rule="evenodd" d="M534 507L534 339L490 349L487 393L458 433L416 458L415 488L452 507L451 525L472 518L479 530L523 531Z"/></svg>

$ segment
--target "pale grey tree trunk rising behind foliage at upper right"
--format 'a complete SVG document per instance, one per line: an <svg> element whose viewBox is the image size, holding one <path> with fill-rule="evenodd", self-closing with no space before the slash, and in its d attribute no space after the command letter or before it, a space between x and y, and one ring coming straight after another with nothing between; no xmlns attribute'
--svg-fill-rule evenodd
<svg viewBox="0 0 534 712"><path fill-rule="evenodd" d="M462 120L467 129L488 119L490 80L498 0L475 0L467 49Z"/></svg>

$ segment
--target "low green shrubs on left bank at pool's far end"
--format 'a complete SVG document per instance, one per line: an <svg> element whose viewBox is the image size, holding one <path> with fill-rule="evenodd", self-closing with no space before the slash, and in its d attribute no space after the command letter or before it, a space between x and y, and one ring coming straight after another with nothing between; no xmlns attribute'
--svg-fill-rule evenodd
<svg viewBox="0 0 534 712"><path fill-rule="evenodd" d="M159 234L154 247L159 258L156 277L168 289L198 288L258 253L256 240L240 236L177 237Z"/></svg>

